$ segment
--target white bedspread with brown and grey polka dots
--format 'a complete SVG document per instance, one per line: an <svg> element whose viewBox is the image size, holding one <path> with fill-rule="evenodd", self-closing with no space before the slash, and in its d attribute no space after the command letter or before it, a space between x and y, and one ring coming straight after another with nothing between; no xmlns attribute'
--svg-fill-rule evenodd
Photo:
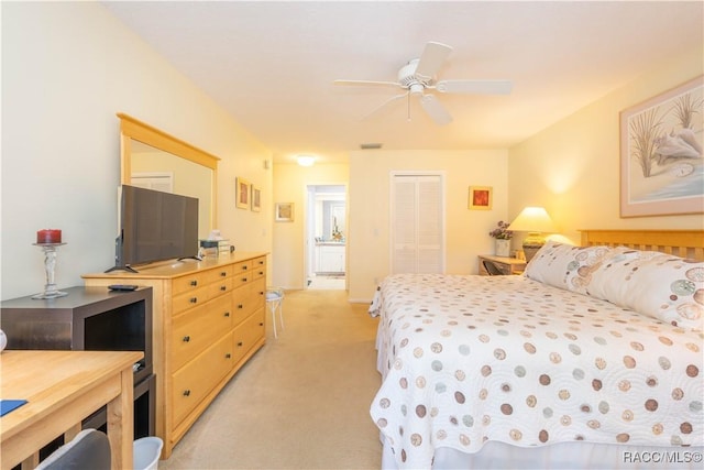
<svg viewBox="0 0 704 470"><path fill-rule="evenodd" d="M399 468L435 448L701 446L701 331L524 276L394 275L371 415Z"/></svg>

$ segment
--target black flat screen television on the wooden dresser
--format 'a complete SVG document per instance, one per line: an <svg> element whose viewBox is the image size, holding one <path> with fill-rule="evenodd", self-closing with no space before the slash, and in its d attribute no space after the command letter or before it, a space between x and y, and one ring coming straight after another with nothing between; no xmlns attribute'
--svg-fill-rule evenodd
<svg viewBox="0 0 704 470"><path fill-rule="evenodd" d="M113 270L170 259L198 258L198 199L120 187L119 234Z"/></svg>

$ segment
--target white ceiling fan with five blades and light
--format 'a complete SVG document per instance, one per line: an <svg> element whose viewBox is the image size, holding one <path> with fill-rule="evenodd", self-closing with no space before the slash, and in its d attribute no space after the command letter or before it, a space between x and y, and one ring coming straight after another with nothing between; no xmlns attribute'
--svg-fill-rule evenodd
<svg viewBox="0 0 704 470"><path fill-rule="evenodd" d="M452 122L452 117L432 95L432 91L477 95L508 95L510 92L513 84L509 80L437 80L436 75L451 52L452 47L449 45L429 42L426 44L420 58L409 61L398 70L398 81L334 80L334 84L402 88L405 90L403 94L389 98L372 111L370 116L391 102L406 98L408 102L408 120L410 120L410 99L411 97L418 97L422 109L439 125L449 124Z"/></svg>

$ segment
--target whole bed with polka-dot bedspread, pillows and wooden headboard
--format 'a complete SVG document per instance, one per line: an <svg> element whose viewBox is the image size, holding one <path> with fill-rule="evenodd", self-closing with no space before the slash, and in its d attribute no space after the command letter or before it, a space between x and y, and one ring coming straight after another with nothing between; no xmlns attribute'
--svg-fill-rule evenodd
<svg viewBox="0 0 704 470"><path fill-rule="evenodd" d="M520 276L387 276L392 468L701 468L704 232L583 231Z"/></svg>

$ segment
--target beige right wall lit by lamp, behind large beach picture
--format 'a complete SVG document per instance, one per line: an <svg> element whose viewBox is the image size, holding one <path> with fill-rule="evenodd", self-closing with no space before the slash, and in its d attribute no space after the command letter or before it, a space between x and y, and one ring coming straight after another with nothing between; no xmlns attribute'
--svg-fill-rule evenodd
<svg viewBox="0 0 704 470"><path fill-rule="evenodd" d="M544 206L574 242L579 229L703 228L702 215L619 217L619 112L701 76L703 57L700 44L512 147L508 215Z"/></svg>

